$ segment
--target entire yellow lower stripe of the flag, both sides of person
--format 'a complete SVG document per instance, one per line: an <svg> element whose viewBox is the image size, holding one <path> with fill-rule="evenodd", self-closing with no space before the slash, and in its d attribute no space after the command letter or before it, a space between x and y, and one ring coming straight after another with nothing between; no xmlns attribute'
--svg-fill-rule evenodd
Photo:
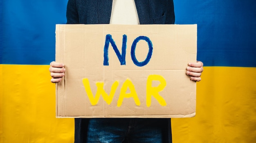
<svg viewBox="0 0 256 143"><path fill-rule="evenodd" d="M196 115L172 119L174 143L256 141L256 68L204 67ZM56 119L49 65L0 65L0 143L72 143L74 119Z"/></svg>

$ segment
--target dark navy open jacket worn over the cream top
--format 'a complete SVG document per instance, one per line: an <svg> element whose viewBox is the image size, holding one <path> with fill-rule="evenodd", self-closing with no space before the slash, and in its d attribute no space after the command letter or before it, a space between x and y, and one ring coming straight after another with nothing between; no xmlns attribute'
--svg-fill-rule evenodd
<svg viewBox="0 0 256 143"><path fill-rule="evenodd" d="M135 0L140 24L174 24L173 0ZM112 0L68 0L67 24L109 24ZM75 119L75 143L86 143L89 119ZM166 119L164 143L171 143L171 119Z"/></svg>

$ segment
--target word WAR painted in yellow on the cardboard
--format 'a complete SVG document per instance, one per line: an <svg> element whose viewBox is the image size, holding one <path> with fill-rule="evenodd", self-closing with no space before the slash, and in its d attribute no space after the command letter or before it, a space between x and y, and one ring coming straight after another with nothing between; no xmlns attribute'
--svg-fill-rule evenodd
<svg viewBox="0 0 256 143"><path fill-rule="evenodd" d="M154 80L157 80L160 82L157 87L152 87L152 82ZM108 93L106 93L106 91L103 88L104 82L96 82L97 91L96 91L95 97L92 93L92 90L90 87L90 82L89 82L88 78L83 78L83 85L85 87L85 91L86 91L88 98L90 100L90 103L92 105L98 104L100 95L102 95L103 100L105 100L106 103L108 105L110 105L114 98L117 87L119 86L119 81L116 80L112 84L109 95L108 95ZM159 102L160 105L162 105L162 106L167 105L164 98L161 95L159 95L159 92L163 91L165 87L166 87L166 80L164 79L163 76L160 76L160 75L149 75L148 76L148 79L146 82L146 106L147 107L151 106L152 96ZM130 93L126 93L128 88L130 89ZM137 106L140 106L140 101L139 101L137 92L135 90L135 86L130 79L126 79L120 89L120 94L119 94L119 98L117 101L117 107L120 107L122 105L124 98L133 98L135 104Z"/></svg>

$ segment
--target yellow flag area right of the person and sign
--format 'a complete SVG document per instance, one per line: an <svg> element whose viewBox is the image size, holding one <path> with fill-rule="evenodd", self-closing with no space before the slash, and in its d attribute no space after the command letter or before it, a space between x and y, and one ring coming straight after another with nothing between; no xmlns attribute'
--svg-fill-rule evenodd
<svg viewBox="0 0 256 143"><path fill-rule="evenodd" d="M196 115L172 119L174 143L254 143L256 68L204 67Z"/></svg>

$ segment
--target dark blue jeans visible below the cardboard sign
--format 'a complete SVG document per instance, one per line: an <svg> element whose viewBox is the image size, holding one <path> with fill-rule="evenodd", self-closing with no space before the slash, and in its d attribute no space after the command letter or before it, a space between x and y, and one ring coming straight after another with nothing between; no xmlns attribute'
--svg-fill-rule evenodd
<svg viewBox="0 0 256 143"><path fill-rule="evenodd" d="M94 118L88 125L88 143L163 143L165 121L154 118Z"/></svg>

